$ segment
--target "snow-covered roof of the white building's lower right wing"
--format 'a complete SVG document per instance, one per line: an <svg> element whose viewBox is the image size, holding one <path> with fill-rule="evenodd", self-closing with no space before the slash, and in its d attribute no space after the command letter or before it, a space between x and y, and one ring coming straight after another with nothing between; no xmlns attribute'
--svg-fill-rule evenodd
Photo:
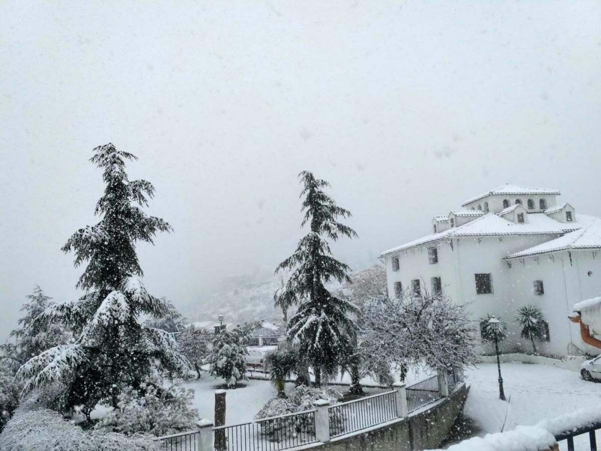
<svg viewBox="0 0 601 451"><path fill-rule="evenodd" d="M541 216L541 215L537 215ZM578 230L566 233L564 236L552 239L546 243L538 244L534 247L524 249L505 257L508 259L519 259L520 257L535 256L540 254L548 254L552 252L566 251L572 249L601 249L601 219L591 216L579 215L578 219L585 219L585 222L590 221ZM530 218L531 216L528 216ZM592 220L591 220L592 219Z"/></svg>

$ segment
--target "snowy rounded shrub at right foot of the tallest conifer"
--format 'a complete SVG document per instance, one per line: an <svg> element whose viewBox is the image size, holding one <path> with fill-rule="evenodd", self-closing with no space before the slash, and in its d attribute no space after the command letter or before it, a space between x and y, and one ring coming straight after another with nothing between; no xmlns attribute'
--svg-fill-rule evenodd
<svg viewBox="0 0 601 451"><path fill-rule="evenodd" d="M139 390L126 388L119 394L117 408L103 417L96 428L109 428L121 434L161 435L190 431L198 421L198 411L191 408L194 390L180 385L161 388L141 384Z"/></svg>

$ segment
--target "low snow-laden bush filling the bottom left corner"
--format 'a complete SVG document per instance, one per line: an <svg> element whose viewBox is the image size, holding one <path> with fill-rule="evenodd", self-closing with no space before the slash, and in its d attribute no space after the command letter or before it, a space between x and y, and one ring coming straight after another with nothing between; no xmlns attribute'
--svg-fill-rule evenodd
<svg viewBox="0 0 601 451"><path fill-rule="evenodd" d="M17 409L0 434L2 451L159 451L164 449L152 435L124 435L102 429L84 431L52 410Z"/></svg>

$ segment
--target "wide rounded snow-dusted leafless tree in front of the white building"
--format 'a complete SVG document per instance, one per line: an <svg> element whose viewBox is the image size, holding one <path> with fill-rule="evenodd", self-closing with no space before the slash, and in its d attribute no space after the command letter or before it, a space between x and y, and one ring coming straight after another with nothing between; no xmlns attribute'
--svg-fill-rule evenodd
<svg viewBox="0 0 601 451"><path fill-rule="evenodd" d="M373 299L365 303L359 324L362 359L370 369L392 364L403 379L408 366L451 373L476 362L477 330L465 305L442 293Z"/></svg>

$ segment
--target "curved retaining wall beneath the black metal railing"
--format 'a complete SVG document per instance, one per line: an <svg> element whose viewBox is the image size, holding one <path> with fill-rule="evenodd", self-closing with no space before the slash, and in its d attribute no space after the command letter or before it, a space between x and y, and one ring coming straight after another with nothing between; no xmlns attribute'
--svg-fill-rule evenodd
<svg viewBox="0 0 601 451"><path fill-rule="evenodd" d="M463 410L469 388L463 385L432 408L398 419L381 428L358 432L329 443L308 446L328 451L421 451L435 449Z"/></svg>

